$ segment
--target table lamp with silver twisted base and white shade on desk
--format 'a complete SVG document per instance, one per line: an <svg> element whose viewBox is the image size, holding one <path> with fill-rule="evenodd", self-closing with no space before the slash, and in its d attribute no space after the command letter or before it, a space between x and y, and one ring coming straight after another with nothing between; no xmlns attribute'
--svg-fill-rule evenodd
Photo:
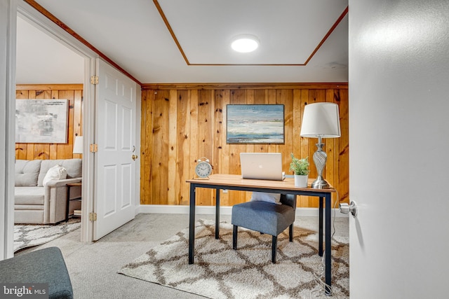
<svg viewBox="0 0 449 299"><path fill-rule="evenodd" d="M340 116L338 105L334 103L314 103L304 107L302 115L301 137L316 138L316 152L314 153L314 163L318 177L311 183L311 188L327 189L329 184L323 179L323 169L326 166L328 155L323 151L324 144L322 138L340 137Z"/></svg>

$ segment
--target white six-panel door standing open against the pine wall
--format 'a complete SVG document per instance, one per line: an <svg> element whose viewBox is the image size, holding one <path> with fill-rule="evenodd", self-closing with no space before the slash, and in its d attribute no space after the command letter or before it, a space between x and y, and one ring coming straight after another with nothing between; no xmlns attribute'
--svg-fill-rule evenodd
<svg viewBox="0 0 449 299"><path fill-rule="evenodd" d="M97 59L95 204L97 240L134 218L136 83Z"/></svg>

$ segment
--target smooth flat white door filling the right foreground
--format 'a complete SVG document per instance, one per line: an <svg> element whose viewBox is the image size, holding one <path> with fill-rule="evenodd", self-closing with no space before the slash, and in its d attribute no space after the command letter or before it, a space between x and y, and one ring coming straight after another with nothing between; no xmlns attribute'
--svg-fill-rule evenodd
<svg viewBox="0 0 449 299"><path fill-rule="evenodd" d="M447 298L449 1L349 0L351 298Z"/></svg>

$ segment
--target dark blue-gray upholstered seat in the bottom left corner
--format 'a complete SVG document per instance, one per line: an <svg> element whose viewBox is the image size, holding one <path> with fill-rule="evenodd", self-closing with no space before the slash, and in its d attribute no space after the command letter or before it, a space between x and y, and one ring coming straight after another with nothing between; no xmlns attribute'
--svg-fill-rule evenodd
<svg viewBox="0 0 449 299"><path fill-rule="evenodd" d="M0 282L11 284L48 284L48 298L72 299L69 272L58 247L23 253L0 260Z"/></svg>

